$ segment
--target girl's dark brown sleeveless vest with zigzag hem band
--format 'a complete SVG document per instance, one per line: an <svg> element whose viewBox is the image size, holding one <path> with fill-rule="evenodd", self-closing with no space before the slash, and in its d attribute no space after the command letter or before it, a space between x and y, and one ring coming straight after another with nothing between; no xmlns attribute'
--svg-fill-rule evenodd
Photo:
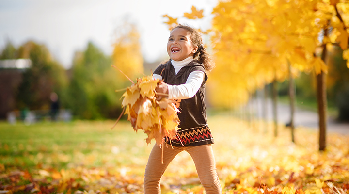
<svg viewBox="0 0 349 194"><path fill-rule="evenodd" d="M186 83L189 74L193 71L203 71L205 79L194 97L174 100L174 104L181 111L181 113L178 113L180 120L178 127L180 129L177 133L179 138L171 140L174 146L199 146L214 143L211 130L207 125L205 105L207 75L204 65L200 64L198 60L193 60L188 65L182 67L176 75L170 60L166 64L159 65L154 73L161 75L163 81L167 84L180 85Z"/></svg>

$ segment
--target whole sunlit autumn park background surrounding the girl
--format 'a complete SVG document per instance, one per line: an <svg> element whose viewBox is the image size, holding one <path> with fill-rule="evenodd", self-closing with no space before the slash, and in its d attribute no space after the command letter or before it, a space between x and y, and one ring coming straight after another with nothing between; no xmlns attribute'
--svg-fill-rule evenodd
<svg viewBox="0 0 349 194"><path fill-rule="evenodd" d="M111 128L179 23L216 63L223 193L348 193L348 0L0 0L0 194L142 194L155 142L126 115ZM204 193L185 152L161 184Z"/></svg>

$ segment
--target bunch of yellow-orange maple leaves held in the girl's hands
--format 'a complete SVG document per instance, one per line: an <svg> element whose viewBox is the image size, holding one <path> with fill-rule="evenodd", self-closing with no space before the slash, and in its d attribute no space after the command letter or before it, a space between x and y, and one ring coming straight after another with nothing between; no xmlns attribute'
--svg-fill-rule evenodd
<svg viewBox="0 0 349 194"><path fill-rule="evenodd" d="M155 88L160 82L159 79L144 76L127 87L122 95L124 114L128 115L127 120L131 122L133 129L141 129L147 134L147 144L155 139L159 146L163 144L165 137L176 139L176 131L179 129L179 110L173 101L165 97L157 100Z"/></svg>

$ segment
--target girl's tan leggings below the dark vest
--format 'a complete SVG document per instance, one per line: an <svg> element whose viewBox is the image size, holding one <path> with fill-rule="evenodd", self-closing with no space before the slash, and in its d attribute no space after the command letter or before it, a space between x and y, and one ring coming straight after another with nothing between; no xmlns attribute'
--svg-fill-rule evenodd
<svg viewBox="0 0 349 194"><path fill-rule="evenodd" d="M144 194L160 194L160 180L169 163L181 151L193 159L199 179L206 194L222 194L211 145L172 147L164 146L163 164L161 148L155 145L149 155L144 175Z"/></svg>

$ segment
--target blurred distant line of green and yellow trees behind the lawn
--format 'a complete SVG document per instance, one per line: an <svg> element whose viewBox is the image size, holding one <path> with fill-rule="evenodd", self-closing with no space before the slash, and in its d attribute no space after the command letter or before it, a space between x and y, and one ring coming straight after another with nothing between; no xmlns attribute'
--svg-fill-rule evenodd
<svg viewBox="0 0 349 194"><path fill-rule="evenodd" d="M89 42L85 49L75 52L72 66L68 70L52 57L43 44L28 41L15 47L8 41L4 48L0 48L0 59L26 58L32 61L32 67L23 71L22 81L15 89L14 110L49 109L50 94L55 92L58 94L60 107L71 110L77 119L119 116L122 110L120 97L123 92L115 90L126 88L131 83L111 65L119 67L132 80L141 77L144 68L136 27L125 23L120 29L116 32L114 50L110 56ZM329 104L338 108L339 119L347 120L349 69L345 66L342 53L343 50L338 46L329 50L329 64L332 65L328 69L327 93ZM210 75L211 79L219 79L212 76ZM313 76L301 73L295 83L298 101L314 101L316 80ZM288 92L287 85L287 80L280 85L280 95ZM212 102L218 99L209 100Z"/></svg>

